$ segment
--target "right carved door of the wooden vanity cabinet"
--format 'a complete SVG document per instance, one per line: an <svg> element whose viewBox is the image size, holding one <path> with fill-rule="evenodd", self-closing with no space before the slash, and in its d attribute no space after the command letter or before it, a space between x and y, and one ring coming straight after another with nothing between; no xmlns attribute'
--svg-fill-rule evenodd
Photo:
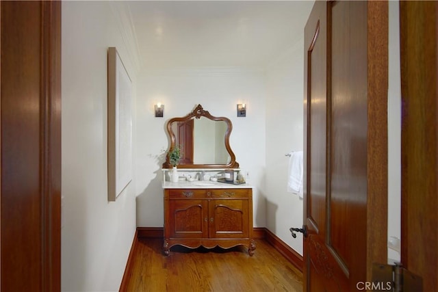
<svg viewBox="0 0 438 292"><path fill-rule="evenodd" d="M209 202L210 238L247 238L248 200L224 199Z"/></svg>

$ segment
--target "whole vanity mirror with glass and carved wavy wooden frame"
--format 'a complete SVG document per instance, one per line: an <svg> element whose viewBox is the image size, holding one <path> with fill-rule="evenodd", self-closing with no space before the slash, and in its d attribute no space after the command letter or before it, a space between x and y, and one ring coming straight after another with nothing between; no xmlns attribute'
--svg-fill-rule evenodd
<svg viewBox="0 0 438 292"><path fill-rule="evenodd" d="M167 153L179 146L181 168L238 168L229 144L232 129L231 120L211 116L198 105L187 116L168 120L170 147ZM172 168L169 155L163 168Z"/></svg>

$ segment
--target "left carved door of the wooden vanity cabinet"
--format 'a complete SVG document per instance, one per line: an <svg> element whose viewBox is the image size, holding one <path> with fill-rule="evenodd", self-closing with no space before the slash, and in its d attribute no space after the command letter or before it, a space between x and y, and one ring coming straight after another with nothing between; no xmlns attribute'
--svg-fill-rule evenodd
<svg viewBox="0 0 438 292"><path fill-rule="evenodd" d="M201 238L208 236L206 200L169 200L170 237Z"/></svg>

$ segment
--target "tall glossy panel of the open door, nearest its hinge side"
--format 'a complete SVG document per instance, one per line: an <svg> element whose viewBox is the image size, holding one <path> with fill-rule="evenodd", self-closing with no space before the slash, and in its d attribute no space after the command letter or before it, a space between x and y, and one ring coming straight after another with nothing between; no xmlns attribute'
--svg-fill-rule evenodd
<svg viewBox="0 0 438 292"><path fill-rule="evenodd" d="M357 12L357 10L359 10ZM366 2L329 3L331 129L329 245L346 276L353 260L365 263L367 201ZM351 17L354 16L354 17ZM363 269L364 271L364 269Z"/></svg>

